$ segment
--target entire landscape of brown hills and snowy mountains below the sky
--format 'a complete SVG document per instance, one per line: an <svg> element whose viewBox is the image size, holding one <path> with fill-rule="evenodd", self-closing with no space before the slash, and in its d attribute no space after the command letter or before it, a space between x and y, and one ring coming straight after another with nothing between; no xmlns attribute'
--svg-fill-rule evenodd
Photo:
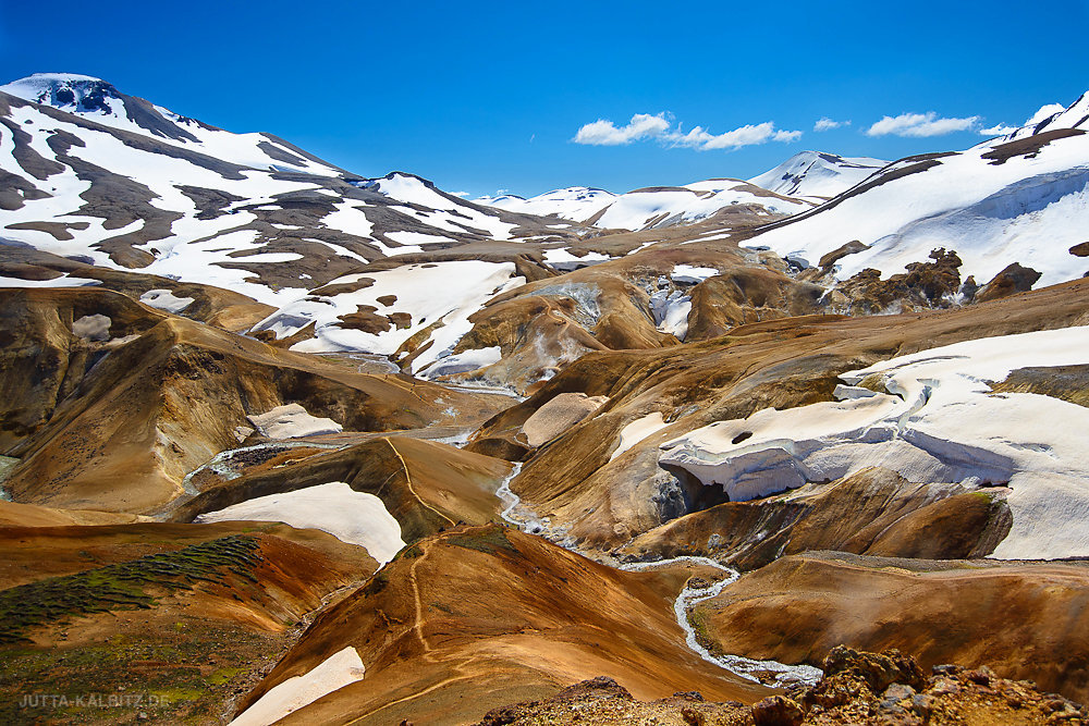
<svg viewBox="0 0 1089 726"><path fill-rule="evenodd" d="M0 86L0 719L1084 718L1087 127L470 201Z"/></svg>

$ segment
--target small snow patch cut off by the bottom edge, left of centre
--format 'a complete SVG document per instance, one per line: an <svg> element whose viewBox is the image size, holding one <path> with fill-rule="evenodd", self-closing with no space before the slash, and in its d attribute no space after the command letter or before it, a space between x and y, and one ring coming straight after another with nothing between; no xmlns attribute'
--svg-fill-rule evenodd
<svg viewBox="0 0 1089 726"><path fill-rule="evenodd" d="M348 645L327 657L305 676L287 678L270 688L232 721L231 726L269 726L322 696L363 680L365 673L359 653Z"/></svg>

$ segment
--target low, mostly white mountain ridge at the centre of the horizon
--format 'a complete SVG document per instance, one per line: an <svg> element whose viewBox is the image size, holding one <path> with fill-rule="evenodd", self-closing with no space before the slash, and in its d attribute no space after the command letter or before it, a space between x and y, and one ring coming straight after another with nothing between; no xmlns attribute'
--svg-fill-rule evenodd
<svg viewBox="0 0 1089 726"><path fill-rule="evenodd" d="M621 195L573 186L528 199L503 195L476 201L526 214L555 216L599 229L633 231L692 224L727 208L748 208L756 216L770 216L796 214L812 207L812 202L736 179L646 187Z"/></svg>

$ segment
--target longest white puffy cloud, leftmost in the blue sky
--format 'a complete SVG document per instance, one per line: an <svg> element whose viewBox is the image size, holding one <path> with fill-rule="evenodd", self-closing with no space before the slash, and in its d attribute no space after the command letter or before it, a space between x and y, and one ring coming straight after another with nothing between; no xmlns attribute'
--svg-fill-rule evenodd
<svg viewBox="0 0 1089 726"><path fill-rule="evenodd" d="M673 127L672 114L668 112L650 115L636 113L625 126L616 126L612 121L598 119L578 130L576 144L594 146L621 146L635 140L657 139L671 146L682 146L700 151L712 149L738 149L743 146L766 144L768 141L794 141L802 136L800 131L776 130L775 124L766 121L761 124L746 124L722 134L712 134L702 126L696 126L684 132L681 126Z"/></svg>

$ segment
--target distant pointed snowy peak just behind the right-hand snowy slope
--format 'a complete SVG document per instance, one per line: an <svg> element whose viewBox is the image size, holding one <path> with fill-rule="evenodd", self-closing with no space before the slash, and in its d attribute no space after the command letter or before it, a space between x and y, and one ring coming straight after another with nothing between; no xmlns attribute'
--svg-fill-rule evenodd
<svg viewBox="0 0 1089 726"><path fill-rule="evenodd" d="M823 151L800 151L749 180L749 184L791 197L831 198L846 192L888 164L869 157L841 157Z"/></svg>

